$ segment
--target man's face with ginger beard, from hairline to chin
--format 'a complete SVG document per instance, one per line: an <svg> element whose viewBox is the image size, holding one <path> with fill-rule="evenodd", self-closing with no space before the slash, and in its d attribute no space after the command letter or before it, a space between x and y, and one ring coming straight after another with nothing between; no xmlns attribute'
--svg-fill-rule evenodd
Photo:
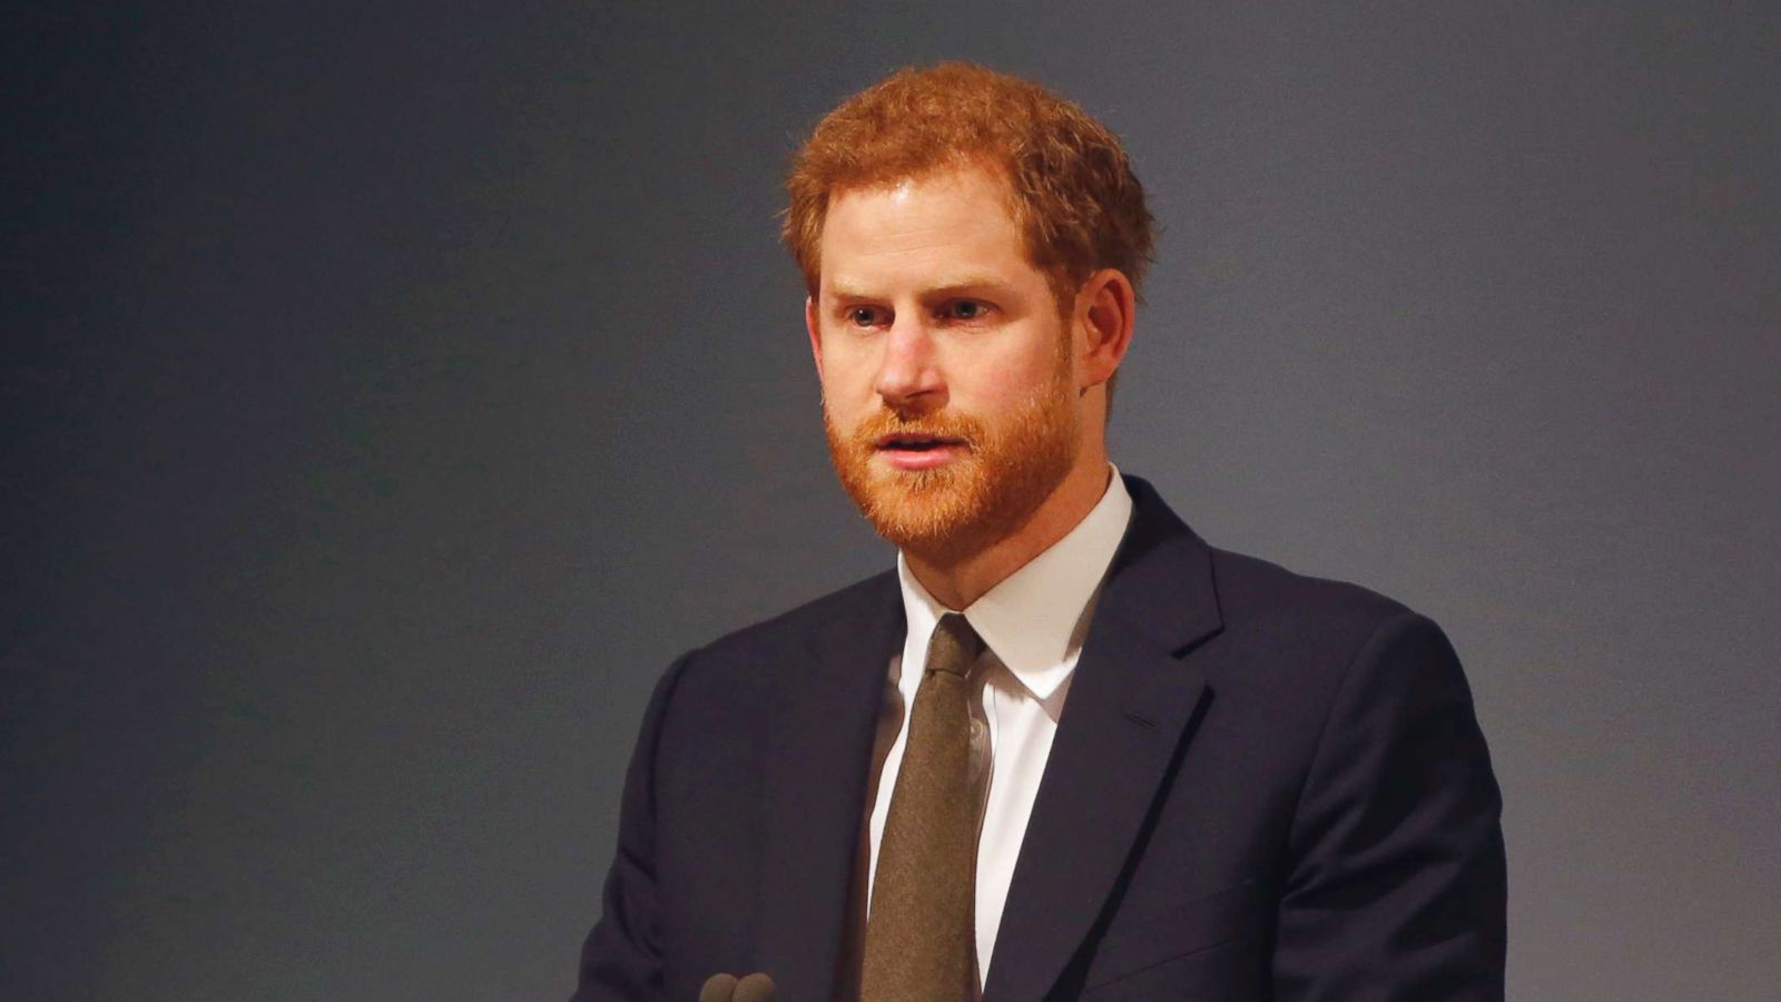
<svg viewBox="0 0 1781 1002"><path fill-rule="evenodd" d="M1074 332L1004 182L837 193L807 307L842 485L880 535L953 562L1019 531L1078 460Z"/></svg>

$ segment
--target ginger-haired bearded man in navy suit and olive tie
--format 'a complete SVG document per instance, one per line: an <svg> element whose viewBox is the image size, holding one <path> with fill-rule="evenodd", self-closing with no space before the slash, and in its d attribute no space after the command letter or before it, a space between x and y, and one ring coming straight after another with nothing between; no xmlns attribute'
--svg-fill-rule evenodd
<svg viewBox="0 0 1781 1002"><path fill-rule="evenodd" d="M898 567L670 667L577 998L1501 998L1441 631L1108 462L1151 251L1117 139L946 64L835 109L789 189L832 458Z"/></svg>

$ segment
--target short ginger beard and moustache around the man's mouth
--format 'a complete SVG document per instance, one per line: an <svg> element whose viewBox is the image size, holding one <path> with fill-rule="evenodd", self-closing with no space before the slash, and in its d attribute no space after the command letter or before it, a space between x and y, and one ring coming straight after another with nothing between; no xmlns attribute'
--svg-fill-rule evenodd
<svg viewBox="0 0 1781 1002"><path fill-rule="evenodd" d="M1069 333L1053 378L996 419L883 408L842 430L825 399L830 460L878 535L923 560L955 563L1019 531L1076 464L1081 421L1067 346ZM894 433L960 439L967 449L942 467L899 471L874 462L880 437Z"/></svg>

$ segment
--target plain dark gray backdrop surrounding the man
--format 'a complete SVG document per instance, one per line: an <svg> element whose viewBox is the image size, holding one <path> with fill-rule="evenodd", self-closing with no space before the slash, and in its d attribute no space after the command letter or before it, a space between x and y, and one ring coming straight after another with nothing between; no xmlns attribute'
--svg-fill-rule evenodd
<svg viewBox="0 0 1781 1002"><path fill-rule="evenodd" d="M666 661L882 569L775 244L971 57L1165 226L1115 456L1428 612L1510 995L1781 982L1772 4L41 5L4 41L0 997L566 995Z"/></svg>

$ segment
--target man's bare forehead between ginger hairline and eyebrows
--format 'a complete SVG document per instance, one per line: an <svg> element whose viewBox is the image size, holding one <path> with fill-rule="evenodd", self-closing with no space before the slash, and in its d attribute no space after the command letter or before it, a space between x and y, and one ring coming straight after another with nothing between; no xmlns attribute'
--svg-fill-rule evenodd
<svg viewBox="0 0 1781 1002"><path fill-rule="evenodd" d="M947 169L835 193L823 221L823 285L944 280L946 273L1033 273L1008 182Z"/></svg>

